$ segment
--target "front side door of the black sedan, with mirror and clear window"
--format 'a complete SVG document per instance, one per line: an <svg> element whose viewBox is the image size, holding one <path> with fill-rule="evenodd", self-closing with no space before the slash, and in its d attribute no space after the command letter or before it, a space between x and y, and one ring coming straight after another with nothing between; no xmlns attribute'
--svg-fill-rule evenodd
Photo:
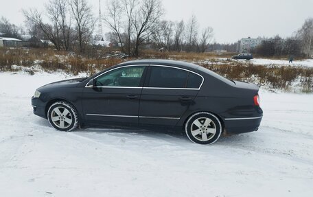
<svg viewBox="0 0 313 197"><path fill-rule="evenodd" d="M145 65L128 65L97 76L82 93L84 119L97 124L139 124Z"/></svg>

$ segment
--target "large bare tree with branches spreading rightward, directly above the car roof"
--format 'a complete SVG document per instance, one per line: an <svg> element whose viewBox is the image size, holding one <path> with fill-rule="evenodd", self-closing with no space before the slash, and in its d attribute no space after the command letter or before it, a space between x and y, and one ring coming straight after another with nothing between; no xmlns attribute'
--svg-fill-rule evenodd
<svg viewBox="0 0 313 197"><path fill-rule="evenodd" d="M135 28L134 55L139 56L139 46L150 38L150 35L159 25L159 19L163 15L161 0L143 0L132 23Z"/></svg>

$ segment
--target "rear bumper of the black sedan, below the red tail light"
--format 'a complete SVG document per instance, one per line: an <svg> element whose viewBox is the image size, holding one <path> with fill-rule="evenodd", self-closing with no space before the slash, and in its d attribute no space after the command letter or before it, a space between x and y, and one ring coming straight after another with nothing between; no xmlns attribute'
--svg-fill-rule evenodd
<svg viewBox="0 0 313 197"><path fill-rule="evenodd" d="M233 118L224 119L224 124L228 133L239 134L257 130L261 121L262 117Z"/></svg>

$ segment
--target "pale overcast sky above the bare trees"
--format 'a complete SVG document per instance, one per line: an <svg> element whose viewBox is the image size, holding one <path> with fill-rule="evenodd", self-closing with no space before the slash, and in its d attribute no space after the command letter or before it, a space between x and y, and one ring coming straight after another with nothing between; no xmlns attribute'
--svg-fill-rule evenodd
<svg viewBox="0 0 313 197"><path fill-rule="evenodd" d="M49 0L0 0L0 16L23 24L22 8L43 10ZM98 12L98 0L89 0ZM106 1L102 0L102 12ZM233 43L242 37L291 36L305 19L313 17L313 0L163 0L165 19L188 21L194 14L201 28L213 27L219 43Z"/></svg>

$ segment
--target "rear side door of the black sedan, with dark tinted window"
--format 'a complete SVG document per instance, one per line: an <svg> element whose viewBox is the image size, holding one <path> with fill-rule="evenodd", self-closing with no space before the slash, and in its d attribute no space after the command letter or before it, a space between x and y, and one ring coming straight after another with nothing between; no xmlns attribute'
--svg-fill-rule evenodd
<svg viewBox="0 0 313 197"><path fill-rule="evenodd" d="M163 65L150 65L141 93L139 125L175 126L194 104L202 76Z"/></svg>

